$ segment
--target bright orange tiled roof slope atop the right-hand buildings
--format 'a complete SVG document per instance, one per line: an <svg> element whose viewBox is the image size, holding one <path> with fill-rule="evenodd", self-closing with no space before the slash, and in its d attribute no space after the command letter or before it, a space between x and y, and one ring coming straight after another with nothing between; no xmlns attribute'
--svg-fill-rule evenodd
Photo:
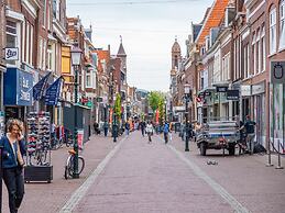
<svg viewBox="0 0 285 213"><path fill-rule="evenodd" d="M198 45L202 45L205 43L205 37L209 35L211 27L219 26L224 16L224 10L228 3L229 0L215 0L210 11L206 11L208 15L202 24L199 35L195 41Z"/></svg>

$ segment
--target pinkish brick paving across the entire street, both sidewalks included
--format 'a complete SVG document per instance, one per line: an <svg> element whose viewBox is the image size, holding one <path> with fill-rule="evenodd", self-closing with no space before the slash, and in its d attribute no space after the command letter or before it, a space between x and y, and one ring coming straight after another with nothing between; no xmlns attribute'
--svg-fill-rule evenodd
<svg viewBox="0 0 285 213"><path fill-rule="evenodd" d="M83 153L87 161L79 180L63 178L66 148L55 150L53 182L26 183L20 212L59 212L116 145L120 146L117 153L73 212L279 213L285 209L285 171L265 167L266 156L223 157L213 150L201 157L193 143L185 153L184 142L175 134L167 146L156 135L147 144L139 132L122 138L114 144L111 137L91 137ZM207 165L208 159L218 165ZM3 194L3 212L8 212L6 188Z"/></svg>

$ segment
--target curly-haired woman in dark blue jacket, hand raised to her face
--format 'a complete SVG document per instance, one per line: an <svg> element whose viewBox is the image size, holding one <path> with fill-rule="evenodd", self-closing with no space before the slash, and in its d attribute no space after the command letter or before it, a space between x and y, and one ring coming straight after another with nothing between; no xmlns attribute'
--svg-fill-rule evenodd
<svg viewBox="0 0 285 213"><path fill-rule="evenodd" d="M17 213L24 195L23 167L25 146L23 141L23 122L10 119L7 134L1 137L3 180L9 194L10 213Z"/></svg>

